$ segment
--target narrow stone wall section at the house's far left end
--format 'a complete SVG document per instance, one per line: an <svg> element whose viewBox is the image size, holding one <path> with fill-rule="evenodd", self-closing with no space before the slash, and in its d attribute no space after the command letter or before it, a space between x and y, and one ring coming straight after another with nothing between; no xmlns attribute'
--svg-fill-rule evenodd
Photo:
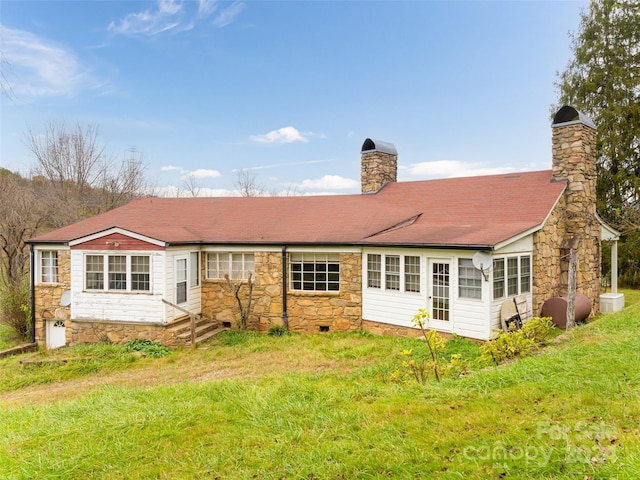
<svg viewBox="0 0 640 480"><path fill-rule="evenodd" d="M36 255L36 261L39 261ZM37 283L37 280L36 280ZM35 318L35 338L38 345L46 344L47 320L69 320L70 309L60 305L62 294L71 289L71 251L58 250L58 283L37 283L35 286L33 312ZM65 330L66 341L71 340L70 330Z"/></svg>

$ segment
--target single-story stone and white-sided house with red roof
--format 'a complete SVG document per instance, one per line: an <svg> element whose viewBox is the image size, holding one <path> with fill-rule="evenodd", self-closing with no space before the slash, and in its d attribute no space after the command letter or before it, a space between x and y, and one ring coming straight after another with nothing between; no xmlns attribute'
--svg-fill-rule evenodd
<svg viewBox="0 0 640 480"><path fill-rule="evenodd" d="M595 133L560 109L545 171L397 182L395 147L366 139L361 194L134 200L29 241L35 340L176 345L194 315L233 327L227 275L245 301L251 277L257 331L416 335L426 308L430 328L486 340L505 301L538 315L566 293L570 241L597 312L601 242L618 234L596 214Z"/></svg>

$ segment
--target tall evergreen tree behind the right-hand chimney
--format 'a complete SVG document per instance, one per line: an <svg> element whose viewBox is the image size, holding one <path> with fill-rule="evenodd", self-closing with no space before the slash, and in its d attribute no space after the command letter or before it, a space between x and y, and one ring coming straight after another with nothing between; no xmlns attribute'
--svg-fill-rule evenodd
<svg viewBox="0 0 640 480"><path fill-rule="evenodd" d="M558 75L559 105L598 126L598 212L625 234L620 275L640 258L640 4L592 0L572 35L573 59Z"/></svg>

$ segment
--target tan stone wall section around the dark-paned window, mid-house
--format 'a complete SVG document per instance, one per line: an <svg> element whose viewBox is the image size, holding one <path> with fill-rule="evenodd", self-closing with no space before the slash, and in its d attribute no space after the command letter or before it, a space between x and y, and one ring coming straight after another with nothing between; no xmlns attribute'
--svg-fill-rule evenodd
<svg viewBox="0 0 640 480"><path fill-rule="evenodd" d="M282 325L282 253L256 252L255 280L248 328L266 332ZM206 259L203 259L206 264ZM288 279L287 279L288 280ZM287 282L288 283L288 282ZM241 288L244 302L248 287ZM240 311L225 281L202 282L202 314L237 327ZM296 332L353 331L362 328L362 255L340 254L340 291L287 292L289 329Z"/></svg>

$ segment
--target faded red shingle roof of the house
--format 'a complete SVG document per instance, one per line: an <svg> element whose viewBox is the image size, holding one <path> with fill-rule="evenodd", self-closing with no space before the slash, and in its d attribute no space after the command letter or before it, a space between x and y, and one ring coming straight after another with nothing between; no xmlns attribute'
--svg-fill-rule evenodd
<svg viewBox="0 0 640 480"><path fill-rule="evenodd" d="M119 227L166 243L494 246L543 224L551 171L391 183L375 194L141 198L31 240Z"/></svg>

